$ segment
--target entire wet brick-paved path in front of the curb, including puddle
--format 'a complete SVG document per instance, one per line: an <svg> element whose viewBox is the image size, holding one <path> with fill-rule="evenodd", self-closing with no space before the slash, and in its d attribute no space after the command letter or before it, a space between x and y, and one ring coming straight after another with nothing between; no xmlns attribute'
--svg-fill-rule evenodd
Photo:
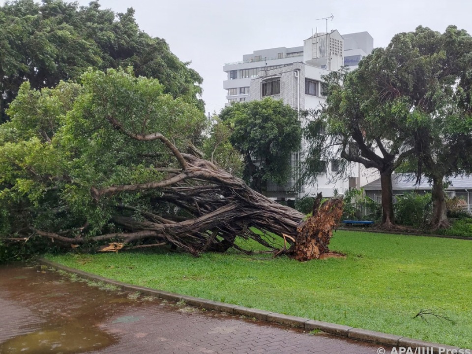
<svg viewBox="0 0 472 354"><path fill-rule="evenodd" d="M0 267L1 354L374 354L378 347L89 286L37 267Z"/></svg>

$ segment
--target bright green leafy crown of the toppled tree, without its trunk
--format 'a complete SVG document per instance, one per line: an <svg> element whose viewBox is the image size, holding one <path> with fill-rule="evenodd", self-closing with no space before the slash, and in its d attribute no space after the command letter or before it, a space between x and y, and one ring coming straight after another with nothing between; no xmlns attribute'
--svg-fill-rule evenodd
<svg viewBox="0 0 472 354"><path fill-rule="evenodd" d="M118 232L110 217L119 205L150 207L159 191L92 198L92 187L155 182L165 177L156 166L177 166L161 143L131 139L111 118L130 134L160 132L182 149L201 136L202 111L156 79L89 69L80 81L41 91L25 83L12 102L11 120L0 126L0 237L31 228L82 237Z"/></svg>

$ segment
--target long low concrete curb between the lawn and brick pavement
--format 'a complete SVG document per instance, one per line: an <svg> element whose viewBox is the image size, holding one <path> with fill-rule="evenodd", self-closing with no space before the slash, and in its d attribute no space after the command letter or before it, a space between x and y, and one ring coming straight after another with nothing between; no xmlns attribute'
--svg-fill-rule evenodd
<svg viewBox="0 0 472 354"><path fill-rule="evenodd" d="M228 304L224 302L207 300L199 297L179 295L176 293L170 293L166 291L155 290L151 288L140 287L136 285L130 285L127 283L122 283L116 280L108 279L101 277L99 275L87 273L82 270L69 268L68 266L60 265L46 259L39 259L38 262L42 265L49 266L58 270L63 270L69 273L74 273L80 276L81 278L100 281L107 284L112 284L117 286L120 289L131 291L131 292L140 292L144 295L150 295L158 298L162 298L169 301L179 302L184 300L187 304L196 307L203 307L208 310L227 312L234 315L242 315L250 318L255 318L257 320L272 322L277 324L285 324L293 327L304 328L307 330L316 330L319 329L323 332L335 334L339 336L348 337L351 339L356 339L365 342L378 343L385 346L392 347L410 347L410 348L429 348L430 354L440 354L440 353L451 353L451 351L457 351L452 353L461 353L459 352L459 347L451 347L447 345L442 345L439 343L430 343L424 342L412 338L402 337L393 334L387 334L383 332L375 332L370 330L365 330L361 328L354 328L341 324L332 324L323 321L310 320L307 318L296 317L284 315L276 312L270 312L265 310L253 309L244 306L237 306L233 304ZM433 352L431 352L433 349Z"/></svg>

